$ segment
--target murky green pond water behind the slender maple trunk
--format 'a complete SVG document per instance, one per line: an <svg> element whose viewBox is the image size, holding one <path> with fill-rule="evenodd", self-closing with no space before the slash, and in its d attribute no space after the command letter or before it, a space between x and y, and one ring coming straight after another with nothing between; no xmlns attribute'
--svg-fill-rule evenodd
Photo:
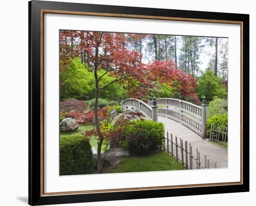
<svg viewBox="0 0 256 206"><path fill-rule="evenodd" d="M69 136L69 135L80 135L81 133L84 133L88 130L92 130L93 128L94 128L94 126L92 124L80 124L78 129L76 129L74 131L60 132L60 138L64 137L64 136ZM97 148L98 148L97 140L94 137L91 137L90 143L92 146L93 153L96 154Z"/></svg>

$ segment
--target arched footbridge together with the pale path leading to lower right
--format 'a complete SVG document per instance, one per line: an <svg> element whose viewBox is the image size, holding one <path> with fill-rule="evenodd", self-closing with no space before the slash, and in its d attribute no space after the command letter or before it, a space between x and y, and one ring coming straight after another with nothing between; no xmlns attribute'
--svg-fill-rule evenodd
<svg viewBox="0 0 256 206"><path fill-rule="evenodd" d="M227 148L221 148L209 141L204 141L206 138L207 109L205 99L203 99L202 105L198 106L174 98L154 98L148 103L129 98L121 100L121 108L122 111L139 111L150 120L162 122L165 126L165 141L162 148L168 151L168 154L170 154L170 150L171 155L175 156L177 161L182 162L187 168L228 166ZM170 143L168 134L171 135L171 141L173 141L172 136L175 141ZM175 146L173 147L173 145ZM184 148L186 152L184 152ZM193 148L194 152L192 152ZM185 158L186 154L189 155L188 160L187 157ZM202 160L200 161L200 155L204 159L203 163Z"/></svg>

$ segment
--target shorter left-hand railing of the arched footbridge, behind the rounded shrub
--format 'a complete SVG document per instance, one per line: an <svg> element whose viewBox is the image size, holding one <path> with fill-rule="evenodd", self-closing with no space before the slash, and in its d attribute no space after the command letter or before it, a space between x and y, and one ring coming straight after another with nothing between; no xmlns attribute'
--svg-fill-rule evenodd
<svg viewBox="0 0 256 206"><path fill-rule="evenodd" d="M144 116L152 119L152 108L139 99L129 98L121 101L121 108L123 109L136 109L140 111Z"/></svg>

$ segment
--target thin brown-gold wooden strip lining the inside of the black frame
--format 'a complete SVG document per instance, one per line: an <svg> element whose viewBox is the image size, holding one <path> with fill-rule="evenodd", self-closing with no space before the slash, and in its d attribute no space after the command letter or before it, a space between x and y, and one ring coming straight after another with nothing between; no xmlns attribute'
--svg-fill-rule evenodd
<svg viewBox="0 0 256 206"><path fill-rule="evenodd" d="M209 184L189 184L189 185L178 185L178 186L132 187L132 188L119 188L119 189L84 190L84 191L69 191L69 192L63 191L63 192L54 192L54 193L44 193L44 14L45 13L103 16L103 17L123 17L123 18L134 18L134 19L158 19L158 20L240 25L240 181L239 182L219 182L219 183L209 183ZM214 186L231 186L231 185L243 185L243 21L144 16L144 15L117 14L117 13L76 12L76 11L61 11L61 10L49 10L49 9L40 10L40 196L41 197L52 196L52 195L128 192L128 191L155 190L155 189L214 187Z"/></svg>

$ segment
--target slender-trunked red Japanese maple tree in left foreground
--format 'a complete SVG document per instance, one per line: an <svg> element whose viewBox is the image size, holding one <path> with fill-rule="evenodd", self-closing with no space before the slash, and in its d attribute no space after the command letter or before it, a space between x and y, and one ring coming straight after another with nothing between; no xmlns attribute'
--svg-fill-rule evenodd
<svg viewBox="0 0 256 206"><path fill-rule="evenodd" d="M124 85L133 84L136 81L137 86L143 88L151 84L150 80L145 78L147 71L143 69L140 59L141 53L128 50L127 42L131 35L124 33L110 32L61 32L61 63L69 64L69 58L75 54L85 56L84 61L92 68L95 79L95 104L94 104L94 123L98 139L98 173L102 171L101 146L104 135L100 129L98 116L99 91L104 90L109 85L122 81ZM69 41L69 42L68 42ZM77 42L76 47L72 42ZM69 53L67 52L69 50ZM104 73L99 76L98 71L104 69ZM99 82L107 73L115 77L113 81L99 86Z"/></svg>

